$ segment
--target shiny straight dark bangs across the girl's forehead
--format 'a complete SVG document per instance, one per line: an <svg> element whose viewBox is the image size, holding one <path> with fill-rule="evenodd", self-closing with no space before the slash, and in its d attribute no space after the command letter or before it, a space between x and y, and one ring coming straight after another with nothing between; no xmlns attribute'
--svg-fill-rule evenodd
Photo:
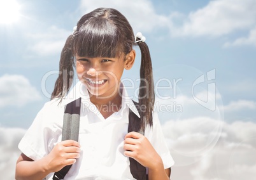
<svg viewBox="0 0 256 180"><path fill-rule="evenodd" d="M117 28L104 17L90 19L90 22L80 27L74 35L74 55L115 58L124 50Z"/></svg>

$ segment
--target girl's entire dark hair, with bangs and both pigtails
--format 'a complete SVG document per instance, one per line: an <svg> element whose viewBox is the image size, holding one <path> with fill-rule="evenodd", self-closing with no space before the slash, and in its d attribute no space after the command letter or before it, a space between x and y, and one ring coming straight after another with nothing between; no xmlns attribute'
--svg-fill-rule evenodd
<svg viewBox="0 0 256 180"><path fill-rule="evenodd" d="M136 39L138 40L138 39ZM68 93L73 82L75 55L115 58L127 55L132 46L138 44L141 49L139 106L141 110L141 129L152 125L152 112L155 96L153 92L152 61L145 42L134 41L134 32L130 23L119 11L111 8L97 8L83 15L78 21L76 30L69 35L60 55L60 74L55 82L53 98L62 98ZM66 72L66 73L64 73Z"/></svg>

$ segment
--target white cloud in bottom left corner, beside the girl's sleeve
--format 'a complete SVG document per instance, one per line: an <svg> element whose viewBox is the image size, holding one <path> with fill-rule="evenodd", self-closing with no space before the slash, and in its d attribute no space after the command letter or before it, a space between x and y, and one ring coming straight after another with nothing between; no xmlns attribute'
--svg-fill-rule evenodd
<svg viewBox="0 0 256 180"><path fill-rule="evenodd" d="M25 130L18 128L0 127L0 174L1 179L15 179L15 165L20 155L18 143L24 136Z"/></svg>

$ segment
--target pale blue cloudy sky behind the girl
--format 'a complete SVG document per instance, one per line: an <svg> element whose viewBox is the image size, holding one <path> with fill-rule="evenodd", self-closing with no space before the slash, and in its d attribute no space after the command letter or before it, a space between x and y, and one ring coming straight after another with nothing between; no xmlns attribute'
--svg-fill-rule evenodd
<svg viewBox="0 0 256 180"><path fill-rule="evenodd" d="M50 94L60 51L85 13L115 8L150 48L155 110L174 158L171 179L256 176L256 1L0 3L0 172L14 179L18 142ZM138 94L140 52L123 75ZM75 79L75 82L77 79Z"/></svg>

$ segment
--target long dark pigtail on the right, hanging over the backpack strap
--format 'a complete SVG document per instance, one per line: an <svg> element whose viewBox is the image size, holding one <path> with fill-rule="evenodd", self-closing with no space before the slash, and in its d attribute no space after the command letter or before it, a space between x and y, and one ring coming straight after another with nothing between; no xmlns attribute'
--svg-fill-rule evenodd
<svg viewBox="0 0 256 180"><path fill-rule="evenodd" d="M153 84L153 70L150 51L145 42L137 42L141 50L140 84L139 84L139 106L141 107L141 130L145 130L146 125L153 125L153 105L155 103L155 93Z"/></svg>

